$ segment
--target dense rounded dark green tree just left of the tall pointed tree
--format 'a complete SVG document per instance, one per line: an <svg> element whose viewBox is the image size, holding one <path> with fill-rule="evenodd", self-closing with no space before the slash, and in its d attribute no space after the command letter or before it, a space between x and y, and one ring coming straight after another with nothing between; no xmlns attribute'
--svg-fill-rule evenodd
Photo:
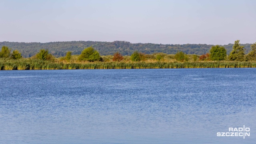
<svg viewBox="0 0 256 144"><path fill-rule="evenodd" d="M210 49L210 60L225 60L227 51L223 46L212 46Z"/></svg>

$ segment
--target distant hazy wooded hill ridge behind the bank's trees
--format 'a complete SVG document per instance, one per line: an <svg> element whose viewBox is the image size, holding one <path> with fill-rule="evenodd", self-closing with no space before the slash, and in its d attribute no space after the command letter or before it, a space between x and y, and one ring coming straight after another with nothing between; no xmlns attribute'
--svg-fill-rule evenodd
<svg viewBox="0 0 256 144"><path fill-rule="evenodd" d="M251 44L241 44L245 46L245 53L250 51ZM84 48L92 46L100 55L113 55L115 52L120 52L123 56L130 56L134 51L138 50L144 54L154 54L163 52L165 54L176 54L182 51L186 54L202 55L209 52L213 45L207 44L151 44L137 43L132 44L126 41L114 42L93 42L93 41L71 41L71 42L0 42L0 47L8 46L12 50L21 52L24 58L34 56L40 49L48 49L55 57L62 57L66 52L71 51L72 54L80 54ZM220 45L221 46L221 45ZM232 50L233 44L222 45L226 48L227 54Z"/></svg>

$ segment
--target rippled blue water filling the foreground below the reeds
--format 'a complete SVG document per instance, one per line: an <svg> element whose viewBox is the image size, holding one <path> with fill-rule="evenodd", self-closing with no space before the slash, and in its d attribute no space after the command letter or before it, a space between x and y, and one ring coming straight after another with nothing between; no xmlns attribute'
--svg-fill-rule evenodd
<svg viewBox="0 0 256 144"><path fill-rule="evenodd" d="M255 68L0 71L0 143L254 144L255 87Z"/></svg>

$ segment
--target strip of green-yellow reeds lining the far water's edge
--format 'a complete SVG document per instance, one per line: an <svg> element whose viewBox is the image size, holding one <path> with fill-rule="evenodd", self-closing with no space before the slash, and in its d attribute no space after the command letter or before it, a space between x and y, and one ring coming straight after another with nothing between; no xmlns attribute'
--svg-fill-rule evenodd
<svg viewBox="0 0 256 144"><path fill-rule="evenodd" d="M54 62L33 59L0 60L0 70L137 69L137 68L256 68L256 62Z"/></svg>

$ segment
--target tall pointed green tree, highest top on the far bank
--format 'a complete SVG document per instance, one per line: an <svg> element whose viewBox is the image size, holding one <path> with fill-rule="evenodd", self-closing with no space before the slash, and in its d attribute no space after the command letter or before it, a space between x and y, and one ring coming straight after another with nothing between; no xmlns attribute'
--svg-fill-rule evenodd
<svg viewBox="0 0 256 144"><path fill-rule="evenodd" d="M244 60L244 46L240 46L239 44L240 40L236 40L233 49L229 54L230 60L238 60L243 61Z"/></svg>

